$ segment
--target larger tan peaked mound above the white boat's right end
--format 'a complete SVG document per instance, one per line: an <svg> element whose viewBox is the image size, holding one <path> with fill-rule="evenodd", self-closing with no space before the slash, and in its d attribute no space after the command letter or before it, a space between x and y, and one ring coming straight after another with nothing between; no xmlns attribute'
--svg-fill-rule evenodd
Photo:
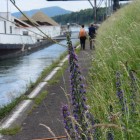
<svg viewBox="0 0 140 140"><path fill-rule="evenodd" d="M41 11L37 12L36 14L34 14L32 16L32 19L35 20L36 22L47 22L50 25L53 26L58 26L59 24L56 23L52 18L48 17L47 15L45 15L44 13L42 13Z"/></svg>

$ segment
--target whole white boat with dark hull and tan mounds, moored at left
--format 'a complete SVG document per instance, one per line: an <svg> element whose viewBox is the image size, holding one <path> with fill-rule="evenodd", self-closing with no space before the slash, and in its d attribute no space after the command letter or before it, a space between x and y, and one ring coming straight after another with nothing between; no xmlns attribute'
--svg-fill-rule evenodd
<svg viewBox="0 0 140 140"><path fill-rule="evenodd" d="M47 36L60 36L61 26L42 12L29 19L0 12L0 60L36 51L52 43Z"/></svg>

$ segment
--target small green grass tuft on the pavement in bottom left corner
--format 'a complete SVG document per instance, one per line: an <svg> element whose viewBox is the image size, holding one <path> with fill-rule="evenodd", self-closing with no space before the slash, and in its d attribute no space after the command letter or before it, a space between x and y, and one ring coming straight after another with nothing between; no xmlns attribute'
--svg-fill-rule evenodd
<svg viewBox="0 0 140 140"><path fill-rule="evenodd" d="M1 129L0 134L2 134L2 135L15 135L19 131L21 131L21 127L16 126L14 128Z"/></svg>

